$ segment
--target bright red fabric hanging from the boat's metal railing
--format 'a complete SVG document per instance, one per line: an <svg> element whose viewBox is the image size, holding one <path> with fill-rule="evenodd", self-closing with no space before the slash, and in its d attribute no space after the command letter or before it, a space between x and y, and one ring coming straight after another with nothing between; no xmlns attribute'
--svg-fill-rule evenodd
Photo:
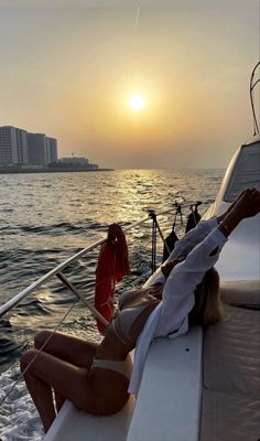
<svg viewBox="0 0 260 441"><path fill-rule="evenodd" d="M122 228L112 224L108 228L107 241L101 245L96 269L95 308L110 322L113 316L116 282L129 275L128 246ZM106 326L97 320L99 332Z"/></svg>

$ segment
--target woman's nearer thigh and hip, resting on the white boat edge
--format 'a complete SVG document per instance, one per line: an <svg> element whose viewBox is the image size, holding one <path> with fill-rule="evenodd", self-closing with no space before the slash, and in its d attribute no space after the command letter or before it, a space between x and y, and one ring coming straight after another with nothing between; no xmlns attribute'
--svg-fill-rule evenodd
<svg viewBox="0 0 260 441"><path fill-rule="evenodd" d="M74 366L37 349L30 349L22 355L22 372L33 358L28 369L31 379L35 377L42 380L87 412L113 413L128 400L128 380L117 373L107 370L101 376L96 375L93 369L88 372L87 368Z"/></svg>

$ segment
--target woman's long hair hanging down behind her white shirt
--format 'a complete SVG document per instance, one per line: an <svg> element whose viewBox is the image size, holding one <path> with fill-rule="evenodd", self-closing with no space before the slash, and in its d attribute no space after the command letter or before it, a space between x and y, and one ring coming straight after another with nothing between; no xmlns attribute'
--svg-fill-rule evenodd
<svg viewBox="0 0 260 441"><path fill-rule="evenodd" d="M219 276L213 267L205 272L195 291L195 305L189 312L189 323L208 326L223 319Z"/></svg>

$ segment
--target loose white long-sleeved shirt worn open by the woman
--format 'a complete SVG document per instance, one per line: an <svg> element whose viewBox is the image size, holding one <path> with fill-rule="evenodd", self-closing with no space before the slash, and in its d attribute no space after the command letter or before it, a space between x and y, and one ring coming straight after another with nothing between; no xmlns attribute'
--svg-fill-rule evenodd
<svg viewBox="0 0 260 441"><path fill-rule="evenodd" d="M175 248L169 257L169 260L174 260L176 257L185 255L186 259L172 269L166 281L160 270L158 276L152 279L152 284L158 282L165 282L165 284L162 301L149 316L137 342L129 385L130 394L137 394L139 390L145 357L152 340L163 336L175 338L187 332L188 313L195 303L194 290L205 272L216 263L219 252L227 241L217 225L216 217L199 222L196 228L189 230L175 244Z"/></svg>

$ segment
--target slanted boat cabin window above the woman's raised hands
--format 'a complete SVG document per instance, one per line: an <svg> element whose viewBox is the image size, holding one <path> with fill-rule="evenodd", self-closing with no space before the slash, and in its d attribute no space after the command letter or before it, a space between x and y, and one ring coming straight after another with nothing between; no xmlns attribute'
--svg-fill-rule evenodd
<svg viewBox="0 0 260 441"><path fill-rule="evenodd" d="M224 195L225 202L232 202L243 189L260 190L260 142L241 149Z"/></svg>

